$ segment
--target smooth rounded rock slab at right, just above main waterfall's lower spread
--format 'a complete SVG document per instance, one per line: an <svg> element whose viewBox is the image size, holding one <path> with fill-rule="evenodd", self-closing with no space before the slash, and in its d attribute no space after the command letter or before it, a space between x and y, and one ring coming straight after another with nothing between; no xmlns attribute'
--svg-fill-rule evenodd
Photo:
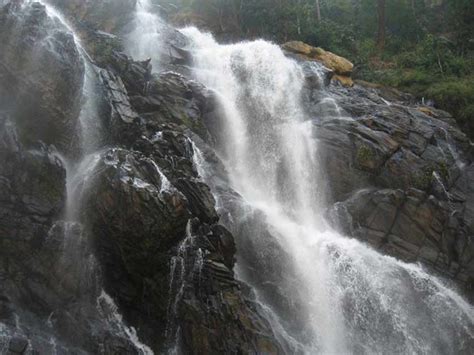
<svg viewBox="0 0 474 355"><path fill-rule="evenodd" d="M372 190L344 204L354 236L407 262L422 262L439 275L472 289L474 246L462 215L449 203L418 190Z"/></svg>

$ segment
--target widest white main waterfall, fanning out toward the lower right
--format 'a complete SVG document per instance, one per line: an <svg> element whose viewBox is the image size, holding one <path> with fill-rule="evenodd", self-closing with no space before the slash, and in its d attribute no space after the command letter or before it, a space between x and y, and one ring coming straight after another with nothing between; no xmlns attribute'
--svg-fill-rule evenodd
<svg viewBox="0 0 474 355"><path fill-rule="evenodd" d="M420 266L383 256L326 223L315 128L301 102L302 68L262 40L219 45L195 28L182 32L192 41L196 79L216 93L222 109L217 153L241 195L228 223L237 237L239 276L276 314L269 320L291 352L467 353L474 341L471 305ZM273 245L278 258L268 252ZM256 265L248 265L249 250L259 256ZM270 296L264 285L270 280L258 278L266 269L275 270L278 290Z"/></svg>

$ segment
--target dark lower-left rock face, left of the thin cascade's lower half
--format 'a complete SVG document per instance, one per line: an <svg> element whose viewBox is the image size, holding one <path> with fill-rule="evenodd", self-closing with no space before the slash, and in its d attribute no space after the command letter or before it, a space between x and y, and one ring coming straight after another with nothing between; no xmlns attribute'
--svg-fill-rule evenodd
<svg viewBox="0 0 474 355"><path fill-rule="evenodd" d="M109 324L110 309L85 302L100 289L89 273L94 258L81 243L81 226L59 220L66 200L61 160L44 144L26 149L5 114L0 159L2 352L136 353ZM73 263L75 254L83 264Z"/></svg>

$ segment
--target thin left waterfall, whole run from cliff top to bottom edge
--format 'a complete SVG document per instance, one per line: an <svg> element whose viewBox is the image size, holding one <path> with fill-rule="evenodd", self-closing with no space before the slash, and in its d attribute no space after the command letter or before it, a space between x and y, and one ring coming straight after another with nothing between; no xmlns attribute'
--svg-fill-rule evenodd
<svg viewBox="0 0 474 355"><path fill-rule="evenodd" d="M88 184L92 183L95 168L100 162L103 154L101 133L102 125L99 115L100 91L97 68L92 64L91 59L82 46L78 36L72 26L53 6L46 1L40 1L45 7L48 16L57 19L64 30L70 32L77 48L79 49L84 63L84 79L82 91L82 108L78 117L79 124L76 134L79 136L78 158L62 157L66 167L66 188L67 200L64 213L65 221L58 221L54 226L62 225L64 230L64 255L62 266L65 278L71 278L74 283L77 299L74 303L90 303L95 299L96 305L88 306L97 309L98 314L108 327L108 330L115 336L128 339L136 348L139 354L151 355L153 351L141 343L136 330L128 327L122 319L113 299L101 288L100 272L93 252L90 250L89 242L84 238L83 225L81 223L81 200ZM74 305L73 305L74 307ZM51 339L53 350L56 347L56 340ZM56 352L54 350L54 352Z"/></svg>

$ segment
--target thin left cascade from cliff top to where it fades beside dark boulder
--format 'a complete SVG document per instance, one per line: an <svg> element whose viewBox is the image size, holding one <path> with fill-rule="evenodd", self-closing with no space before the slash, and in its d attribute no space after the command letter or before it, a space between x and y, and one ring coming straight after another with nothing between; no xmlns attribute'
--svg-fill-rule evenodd
<svg viewBox="0 0 474 355"><path fill-rule="evenodd" d="M80 223L81 197L89 180L91 179L95 166L100 161L101 153L95 152L99 145L100 122L98 117L97 90L98 79L93 65L89 61L87 52L75 34L72 26L53 6L42 2L46 7L47 14L56 19L66 31L74 37L74 42L84 63L84 79L82 89L82 107L79 114L77 133L79 135L79 152L75 157L64 157L60 155L66 167L66 208L64 221L59 221L53 226L62 228L64 234L64 246L62 266L68 270L68 278L77 283L76 292L82 293L81 285L93 287L89 280L96 279L97 267L95 259L89 250L86 238L84 238L83 226ZM84 262L87 260L86 262Z"/></svg>

